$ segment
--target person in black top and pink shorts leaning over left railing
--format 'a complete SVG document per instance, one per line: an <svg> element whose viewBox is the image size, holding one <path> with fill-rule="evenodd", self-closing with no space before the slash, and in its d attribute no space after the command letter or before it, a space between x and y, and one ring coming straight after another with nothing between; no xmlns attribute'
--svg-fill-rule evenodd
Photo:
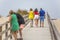
<svg viewBox="0 0 60 40"><path fill-rule="evenodd" d="M22 37L22 30L23 30L23 28L25 26L25 21L24 21L24 18L19 13L15 13L15 14L17 16L18 23L19 23L20 39L23 39L23 37Z"/></svg>

